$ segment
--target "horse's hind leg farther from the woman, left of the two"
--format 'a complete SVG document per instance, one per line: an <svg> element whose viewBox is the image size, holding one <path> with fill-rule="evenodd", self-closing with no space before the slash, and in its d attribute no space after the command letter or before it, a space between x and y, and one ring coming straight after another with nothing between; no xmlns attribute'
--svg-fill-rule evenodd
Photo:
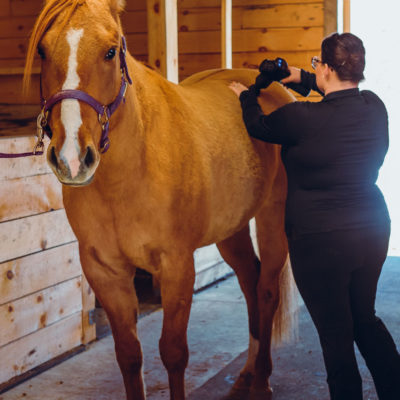
<svg viewBox="0 0 400 400"><path fill-rule="evenodd" d="M258 353L259 312L257 283L260 274L260 261L255 254L248 226L228 239L217 243L217 247L221 256L235 271L247 303L250 338L248 360L229 395L230 399L242 399L246 396L252 384L255 375L255 357Z"/></svg>

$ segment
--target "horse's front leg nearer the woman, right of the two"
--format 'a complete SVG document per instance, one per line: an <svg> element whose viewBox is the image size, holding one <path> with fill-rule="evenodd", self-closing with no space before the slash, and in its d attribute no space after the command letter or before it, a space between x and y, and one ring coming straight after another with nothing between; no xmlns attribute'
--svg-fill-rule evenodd
<svg viewBox="0 0 400 400"><path fill-rule="evenodd" d="M160 274L164 310L160 355L168 372L171 400L185 399L185 369L189 359L187 326L195 272L193 255L165 257Z"/></svg>

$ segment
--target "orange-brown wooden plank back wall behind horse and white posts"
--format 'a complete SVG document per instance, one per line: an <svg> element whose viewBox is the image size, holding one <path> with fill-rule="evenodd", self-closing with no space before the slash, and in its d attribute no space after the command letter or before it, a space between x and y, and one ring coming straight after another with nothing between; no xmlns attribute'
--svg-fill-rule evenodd
<svg viewBox="0 0 400 400"><path fill-rule="evenodd" d="M264 58L284 57L309 69L336 0L233 0L233 67L255 68ZM0 103L21 103L21 72L29 32L42 0L0 0ZM179 73L218 68L220 0L178 0ZM328 21L329 19L329 21ZM146 0L127 0L122 15L130 52L147 60ZM332 28L330 28L332 30ZM35 71L38 73L39 62ZM28 101L37 102L38 79Z"/></svg>

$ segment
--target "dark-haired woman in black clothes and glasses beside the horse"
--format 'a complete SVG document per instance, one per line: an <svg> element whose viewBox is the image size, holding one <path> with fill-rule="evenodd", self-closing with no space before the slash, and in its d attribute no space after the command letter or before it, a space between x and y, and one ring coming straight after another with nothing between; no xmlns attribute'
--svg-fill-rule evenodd
<svg viewBox="0 0 400 400"><path fill-rule="evenodd" d="M281 82L324 94L269 115L258 90L233 82L249 134L282 145L288 177L286 234L294 277L317 328L332 400L362 400L356 342L380 400L400 400L400 355L375 315L375 295L390 236L376 186L388 149L384 104L359 91L365 50L350 34L324 39L315 74L289 67Z"/></svg>

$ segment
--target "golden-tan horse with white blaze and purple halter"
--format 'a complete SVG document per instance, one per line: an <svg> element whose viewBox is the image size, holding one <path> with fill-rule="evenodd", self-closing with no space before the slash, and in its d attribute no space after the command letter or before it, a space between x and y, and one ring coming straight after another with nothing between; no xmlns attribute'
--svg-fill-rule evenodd
<svg viewBox="0 0 400 400"><path fill-rule="evenodd" d="M38 48L48 162L64 185L83 271L109 317L127 398L145 399L136 268L160 282L160 353L171 399L183 400L193 252L217 243L249 314L249 358L233 393L268 399L272 321L280 288L288 293L291 282L286 178L279 147L249 138L228 88L232 80L251 84L256 72L213 70L168 82L125 55L122 3L48 0L31 37L25 85ZM270 112L293 98L274 83L260 101ZM261 261L249 235L253 216ZM287 315L281 307L277 326Z"/></svg>

